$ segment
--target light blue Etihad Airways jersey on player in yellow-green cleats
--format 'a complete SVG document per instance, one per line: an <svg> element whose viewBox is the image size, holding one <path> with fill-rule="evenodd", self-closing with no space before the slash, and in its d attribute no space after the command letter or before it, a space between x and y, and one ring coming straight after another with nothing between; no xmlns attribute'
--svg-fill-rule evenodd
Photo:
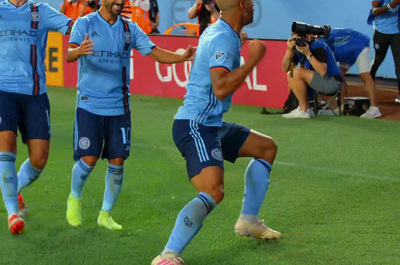
<svg viewBox="0 0 400 265"><path fill-rule="evenodd" d="M129 113L131 49L147 55L156 46L136 23L119 16L110 25L99 12L78 18L70 44L80 45L87 33L94 47L92 55L79 57L78 107L102 116Z"/></svg>

